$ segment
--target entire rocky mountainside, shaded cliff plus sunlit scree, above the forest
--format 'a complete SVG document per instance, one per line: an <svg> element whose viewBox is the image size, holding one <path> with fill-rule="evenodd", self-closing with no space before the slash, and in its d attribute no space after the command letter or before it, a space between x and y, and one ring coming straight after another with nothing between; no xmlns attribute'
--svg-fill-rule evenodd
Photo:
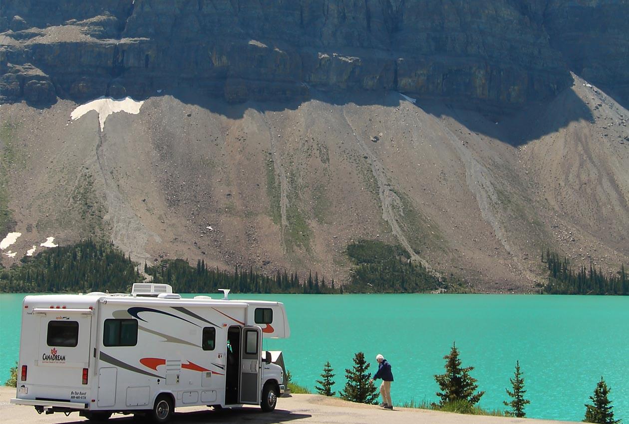
<svg viewBox="0 0 629 424"><path fill-rule="evenodd" d="M535 290L545 247L615 271L628 6L5 0L0 259L94 236L342 281L365 238L478 290ZM70 119L101 95L145 102Z"/></svg>

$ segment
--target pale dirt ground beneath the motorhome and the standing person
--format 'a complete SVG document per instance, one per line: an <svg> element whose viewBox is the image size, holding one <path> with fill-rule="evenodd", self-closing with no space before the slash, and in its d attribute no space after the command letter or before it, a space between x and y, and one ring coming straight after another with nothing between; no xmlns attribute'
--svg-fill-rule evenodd
<svg viewBox="0 0 629 424"><path fill-rule="evenodd" d="M65 416L61 413L38 415L31 406L11 405L9 400L15 396L15 389L0 387L0 420L4 424L14 423L77 423L85 419L78 413ZM214 411L203 406L177 408L173 423L413 423L413 424L481 424L481 423L530 423L550 424L567 421L532 420L527 418L501 418L496 416L460 415L446 412L396 408L383 410L377 406L360 405L340 399L325 398L316 394L294 394L290 398L281 398L276 411L262 413L260 408L245 407L237 410ZM114 414L111 423L133 423L131 416Z"/></svg>

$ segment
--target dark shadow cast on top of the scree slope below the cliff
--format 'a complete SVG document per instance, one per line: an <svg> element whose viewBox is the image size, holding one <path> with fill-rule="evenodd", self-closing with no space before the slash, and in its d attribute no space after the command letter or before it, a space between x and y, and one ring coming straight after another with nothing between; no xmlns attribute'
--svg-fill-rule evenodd
<svg viewBox="0 0 629 424"><path fill-rule="evenodd" d="M169 93L171 94L171 93ZM465 104L450 103L436 99L418 99L411 103L398 92L320 92L311 90L308 99L291 99L277 102L247 101L230 104L223 99L203 97L191 90L172 93L184 104L203 107L210 112L221 114L230 119L240 119L249 109L260 113L294 111L304 102L319 101L330 106L384 106L398 107L403 104L419 107L424 112L436 117L449 116L470 131L483 134L513 146L526 144L532 140L554 133L575 121L594 121L594 116L574 89L567 88L554 99L547 102L526 104L521 109L511 109L499 113L496 107L491 109L476 105L475 109L466 108Z"/></svg>

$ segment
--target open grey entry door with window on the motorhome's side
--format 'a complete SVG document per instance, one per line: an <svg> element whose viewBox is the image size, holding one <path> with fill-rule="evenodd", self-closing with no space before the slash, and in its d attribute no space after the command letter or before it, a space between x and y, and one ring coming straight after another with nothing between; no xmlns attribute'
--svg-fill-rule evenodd
<svg viewBox="0 0 629 424"><path fill-rule="evenodd" d="M240 403L260 404L260 371L262 371L262 330L243 327L240 361Z"/></svg>

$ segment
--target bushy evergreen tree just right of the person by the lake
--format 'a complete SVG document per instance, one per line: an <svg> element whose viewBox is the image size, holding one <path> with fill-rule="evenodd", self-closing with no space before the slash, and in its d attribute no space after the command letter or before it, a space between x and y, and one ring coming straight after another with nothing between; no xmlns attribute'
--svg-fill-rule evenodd
<svg viewBox="0 0 629 424"><path fill-rule="evenodd" d="M478 385L476 378L469 375L474 367L461 367L459 349L454 343L452 343L450 354L444 356L443 359L445 359L445 374L435 375L435 381L442 389L442 392L437 392L437 396L441 399L439 405L443 406L457 400L465 400L474 405L481 400L485 392L474 393Z"/></svg>

